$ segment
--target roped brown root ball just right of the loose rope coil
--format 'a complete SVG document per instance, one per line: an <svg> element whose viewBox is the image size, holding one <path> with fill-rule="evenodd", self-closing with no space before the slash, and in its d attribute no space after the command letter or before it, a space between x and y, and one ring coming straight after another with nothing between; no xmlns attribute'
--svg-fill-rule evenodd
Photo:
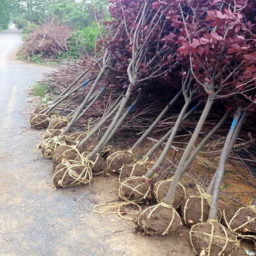
<svg viewBox="0 0 256 256"><path fill-rule="evenodd" d="M139 230L151 235L173 234L182 227L182 221L177 211L163 203L153 205L141 212L137 223Z"/></svg>

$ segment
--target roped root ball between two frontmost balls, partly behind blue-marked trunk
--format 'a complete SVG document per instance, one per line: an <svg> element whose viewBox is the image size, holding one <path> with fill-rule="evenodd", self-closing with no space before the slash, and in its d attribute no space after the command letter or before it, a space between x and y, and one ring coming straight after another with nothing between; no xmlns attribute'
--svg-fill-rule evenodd
<svg viewBox="0 0 256 256"><path fill-rule="evenodd" d="M184 199L181 207L184 223L191 227L195 224L206 222L210 211L210 201L207 196L188 196ZM222 213L218 209L217 218L220 221Z"/></svg>

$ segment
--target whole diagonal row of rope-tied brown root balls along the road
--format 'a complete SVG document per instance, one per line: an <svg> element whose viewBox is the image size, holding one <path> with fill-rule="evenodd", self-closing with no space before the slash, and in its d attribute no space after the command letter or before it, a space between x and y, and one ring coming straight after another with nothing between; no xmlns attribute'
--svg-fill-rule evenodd
<svg viewBox="0 0 256 256"><path fill-rule="evenodd" d="M38 106L31 115L30 124L35 129L47 128L44 140L39 145L42 155L54 161L53 182L56 188L78 186L91 182L93 175L106 170L120 172L119 196L126 202L142 203L156 198L157 204L140 212L136 218L138 230L145 234L173 234L180 230L182 220L176 211L181 207L184 223L191 227L190 240L196 253L204 255L231 255L239 245L237 236L255 239L256 208L242 207L221 212L217 220L207 220L211 195L200 192L200 196L186 196L186 189L178 184L173 200L168 198L172 179L152 184L152 175L145 162L136 161L131 151L116 151L108 156L106 146L95 159L86 157L99 142L90 138L77 149L79 141L86 132L61 135L68 125L65 116L52 115L51 118L38 120L37 113L45 106ZM36 116L36 118L35 118ZM151 176L151 177L150 177ZM223 225L220 221L223 218Z"/></svg>

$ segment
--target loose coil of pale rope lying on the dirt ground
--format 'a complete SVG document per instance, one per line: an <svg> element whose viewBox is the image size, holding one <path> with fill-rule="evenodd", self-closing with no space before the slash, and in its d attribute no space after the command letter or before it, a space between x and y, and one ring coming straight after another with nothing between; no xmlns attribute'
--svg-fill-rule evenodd
<svg viewBox="0 0 256 256"><path fill-rule="evenodd" d="M136 212L129 212L122 210L122 207L124 206L129 206L129 205L134 205L135 207L138 208ZM98 209L101 208L101 209ZM137 215L141 212L141 207L140 205L134 203L134 202L122 202L122 203L109 203L109 204L99 204L93 207L93 212L99 213L99 214L118 214L121 218L124 220L130 220L132 221L132 218L127 218L124 216L125 215Z"/></svg>

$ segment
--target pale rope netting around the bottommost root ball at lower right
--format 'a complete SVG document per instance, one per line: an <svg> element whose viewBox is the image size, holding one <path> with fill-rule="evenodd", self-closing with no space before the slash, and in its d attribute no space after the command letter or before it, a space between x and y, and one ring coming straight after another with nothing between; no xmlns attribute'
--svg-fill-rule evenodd
<svg viewBox="0 0 256 256"><path fill-rule="evenodd" d="M207 224L211 225L211 232L202 232L201 228L200 228L200 231L196 231L195 230L196 227L199 227L199 226L202 227L202 225L207 225ZM214 225L217 225L216 227L220 227L221 228L221 230L223 231L224 237L218 236L218 235L214 234L214 228L215 228ZM204 235L204 236L210 238L209 239L209 244L207 244L207 246L202 247L202 250L205 250L207 252L208 256L216 256L216 254L211 255L212 244L216 243L216 242L214 242L215 238L216 239L220 239L222 241L225 241L224 245L223 244L221 244L221 245L217 244L219 246L219 248L221 248L221 251L218 253L218 255L220 255L220 256L222 255L223 252L225 252L225 250L226 250L226 248L228 246L228 243L232 243L234 248L237 248L239 246L239 241L236 239L236 236L233 235L235 237L235 239L230 239L229 236L228 236L226 228L221 223L219 223L216 220L207 220L207 222L205 222L205 223L198 223L198 224L194 225L191 228L191 230L189 232L190 242L191 242L191 245L193 247L194 252L199 254L199 252L196 251L195 245L193 243L193 234L200 234L200 235ZM199 239L198 239L198 241L199 241ZM232 252L234 252L234 248L233 248ZM229 253L227 256L231 255L232 252Z"/></svg>

